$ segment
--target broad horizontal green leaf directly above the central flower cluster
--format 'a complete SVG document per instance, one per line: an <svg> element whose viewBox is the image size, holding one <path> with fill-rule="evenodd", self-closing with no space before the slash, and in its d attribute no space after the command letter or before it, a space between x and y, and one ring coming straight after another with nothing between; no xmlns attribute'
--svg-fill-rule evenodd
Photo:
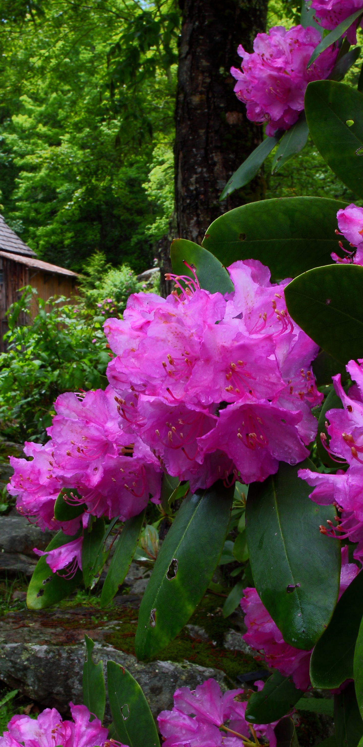
<svg viewBox="0 0 363 747"><path fill-rule="evenodd" d="M323 197L249 202L214 220L202 245L225 267L252 258L267 264L275 280L296 277L332 264L331 252L340 252L337 211L346 207L346 202Z"/></svg>

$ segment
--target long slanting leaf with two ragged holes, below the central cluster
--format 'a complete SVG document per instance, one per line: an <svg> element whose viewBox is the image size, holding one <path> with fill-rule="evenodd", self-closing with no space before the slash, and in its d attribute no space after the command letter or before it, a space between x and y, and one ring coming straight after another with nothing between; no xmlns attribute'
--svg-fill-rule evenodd
<svg viewBox="0 0 363 747"><path fill-rule="evenodd" d="M188 495L161 545L140 606L138 659L161 651L199 604L222 552L235 487L222 481Z"/></svg>

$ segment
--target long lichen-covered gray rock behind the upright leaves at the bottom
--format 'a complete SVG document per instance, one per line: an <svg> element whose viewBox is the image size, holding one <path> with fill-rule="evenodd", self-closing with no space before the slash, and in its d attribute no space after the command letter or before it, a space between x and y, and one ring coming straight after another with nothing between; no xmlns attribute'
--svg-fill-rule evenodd
<svg viewBox="0 0 363 747"><path fill-rule="evenodd" d="M65 713L72 701L82 702L82 670L84 645L36 645L31 643L0 644L0 678L9 687L19 689L28 698L45 707L56 707ZM173 707L173 693L178 687L195 689L206 679L215 678L223 690L224 675L219 669L205 668L185 662L138 662L112 646L96 642L93 650L95 663L102 661L107 683L106 662L115 661L125 666L140 684L154 718L161 710ZM111 713L106 709L106 721Z"/></svg>

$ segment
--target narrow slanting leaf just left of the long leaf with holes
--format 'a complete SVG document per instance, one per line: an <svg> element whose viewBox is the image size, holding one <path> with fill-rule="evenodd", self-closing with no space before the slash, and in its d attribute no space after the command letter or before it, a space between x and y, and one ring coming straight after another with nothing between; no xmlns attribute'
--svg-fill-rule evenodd
<svg viewBox="0 0 363 747"><path fill-rule="evenodd" d="M106 607L106 604L111 602L111 599L117 594L125 580L131 560L134 557L137 542L139 541L145 512L146 508L139 515L125 521L120 537L117 539L105 583L102 586L101 607Z"/></svg>

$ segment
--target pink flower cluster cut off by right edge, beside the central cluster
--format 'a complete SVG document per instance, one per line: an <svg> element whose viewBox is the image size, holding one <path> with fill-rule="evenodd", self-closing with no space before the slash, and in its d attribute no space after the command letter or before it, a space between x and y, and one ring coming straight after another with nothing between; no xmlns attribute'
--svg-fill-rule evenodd
<svg viewBox="0 0 363 747"><path fill-rule="evenodd" d="M347 371L353 384L348 394L341 385L341 375L333 376L334 388L341 398L343 409L326 412L326 430L330 436L329 446L325 434L320 438L341 467L336 474L320 474L301 469L298 474L308 485L314 487L310 498L316 503L334 503L337 509L335 524L320 527L323 533L337 534L358 542L354 557L363 562L363 359L350 361Z"/></svg>

